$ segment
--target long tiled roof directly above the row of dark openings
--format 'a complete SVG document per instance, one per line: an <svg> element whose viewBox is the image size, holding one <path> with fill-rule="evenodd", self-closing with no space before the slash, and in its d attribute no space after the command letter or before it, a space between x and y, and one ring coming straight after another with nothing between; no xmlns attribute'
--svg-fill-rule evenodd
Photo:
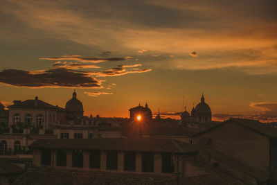
<svg viewBox="0 0 277 185"><path fill-rule="evenodd" d="M120 150L140 152L190 153L195 150L175 139L157 138L101 138L101 139L39 139L30 148L65 148L84 150Z"/></svg>

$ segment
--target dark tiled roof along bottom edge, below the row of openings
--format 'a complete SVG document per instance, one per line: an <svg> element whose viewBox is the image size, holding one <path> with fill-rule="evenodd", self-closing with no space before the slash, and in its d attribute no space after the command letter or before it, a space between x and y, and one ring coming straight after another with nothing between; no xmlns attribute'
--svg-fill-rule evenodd
<svg viewBox="0 0 277 185"><path fill-rule="evenodd" d="M34 168L29 169L15 180L13 184L17 185L46 185L46 184L134 184L147 185L157 184L170 180L170 175L155 174L136 174L136 173L116 173L100 172L92 170L68 170L68 169L51 169L51 168Z"/></svg>

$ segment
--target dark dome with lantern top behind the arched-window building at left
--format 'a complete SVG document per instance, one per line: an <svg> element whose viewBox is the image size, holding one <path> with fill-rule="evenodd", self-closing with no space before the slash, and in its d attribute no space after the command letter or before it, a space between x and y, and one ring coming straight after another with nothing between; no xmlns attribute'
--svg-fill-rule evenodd
<svg viewBox="0 0 277 185"><path fill-rule="evenodd" d="M77 99L77 94L75 92L75 89L72 94L71 100L66 102L65 109L66 109L66 112L68 112L67 118L69 119L82 118L82 116L84 116L84 109L82 106L82 102Z"/></svg>

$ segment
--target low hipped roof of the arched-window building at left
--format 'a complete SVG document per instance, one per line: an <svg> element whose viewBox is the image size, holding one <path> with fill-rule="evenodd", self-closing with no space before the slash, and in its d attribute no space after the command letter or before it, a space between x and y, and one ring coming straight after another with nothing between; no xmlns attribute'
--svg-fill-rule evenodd
<svg viewBox="0 0 277 185"><path fill-rule="evenodd" d="M35 101L37 101L37 106ZM56 107L42 100L25 100L18 101L14 105L8 106L9 109L62 109L61 107Z"/></svg>

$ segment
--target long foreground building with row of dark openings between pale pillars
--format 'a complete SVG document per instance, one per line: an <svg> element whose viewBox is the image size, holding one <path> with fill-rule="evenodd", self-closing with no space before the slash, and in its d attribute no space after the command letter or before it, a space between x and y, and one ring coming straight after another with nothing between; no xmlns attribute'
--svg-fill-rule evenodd
<svg viewBox="0 0 277 185"><path fill-rule="evenodd" d="M269 175L175 139L42 139L14 184L267 184Z"/></svg>

